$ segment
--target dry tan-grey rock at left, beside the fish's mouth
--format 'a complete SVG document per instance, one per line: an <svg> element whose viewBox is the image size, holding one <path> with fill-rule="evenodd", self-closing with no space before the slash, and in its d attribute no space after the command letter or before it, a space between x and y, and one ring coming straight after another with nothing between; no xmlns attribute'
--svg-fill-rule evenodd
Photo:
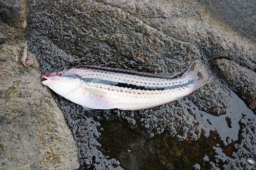
<svg viewBox="0 0 256 170"><path fill-rule="evenodd" d="M11 26L0 21L0 169L76 169L77 144L50 91L41 85L36 59L29 53L34 64L20 62L24 22L17 20Z"/></svg>

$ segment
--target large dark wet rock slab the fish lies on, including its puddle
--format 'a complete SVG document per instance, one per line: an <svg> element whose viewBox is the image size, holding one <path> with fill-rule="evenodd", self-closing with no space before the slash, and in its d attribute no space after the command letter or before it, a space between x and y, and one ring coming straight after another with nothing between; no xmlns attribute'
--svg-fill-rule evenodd
<svg viewBox="0 0 256 170"><path fill-rule="evenodd" d="M209 72L208 83L193 94L134 112L92 114L55 94L78 142L81 168L250 167L246 158L256 157L256 116L219 78L213 61L225 58L255 71L256 46L253 37L212 15L212 6L107 0L28 4L26 39L43 73L84 64L166 73L182 71L194 60Z"/></svg>

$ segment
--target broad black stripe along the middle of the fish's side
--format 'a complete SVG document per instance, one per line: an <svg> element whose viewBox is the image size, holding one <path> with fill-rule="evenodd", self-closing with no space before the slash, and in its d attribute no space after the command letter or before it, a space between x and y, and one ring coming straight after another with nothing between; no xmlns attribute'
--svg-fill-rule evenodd
<svg viewBox="0 0 256 170"><path fill-rule="evenodd" d="M163 86L163 87L150 87L150 86L138 86L134 84L127 84L127 83L119 83L119 82L113 82L109 80L101 80L101 79L94 79L94 78L84 78L84 82L91 82L91 83L97 83L97 84L105 84L105 85L111 85L111 86L116 86L116 87L126 87L126 88L131 88L135 90L167 90L167 89L176 89L176 88L182 88L186 87L187 85L193 84L195 80L189 80L187 83L184 84L177 84L173 86Z"/></svg>

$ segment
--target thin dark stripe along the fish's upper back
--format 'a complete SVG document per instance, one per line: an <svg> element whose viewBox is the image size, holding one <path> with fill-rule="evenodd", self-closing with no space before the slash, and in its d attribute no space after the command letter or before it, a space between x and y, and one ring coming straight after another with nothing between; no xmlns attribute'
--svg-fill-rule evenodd
<svg viewBox="0 0 256 170"><path fill-rule="evenodd" d="M99 70L100 72L102 71L107 71L107 72L116 72L116 73L120 73L120 74L127 74L127 75L133 75L133 76L141 76L141 77L148 77L148 78L164 78L159 76L154 76L154 74L150 75L150 74L146 74L146 73L139 73L138 71L133 71L133 70L123 70L123 69L115 69L115 68L108 68L108 67L97 67L97 66L90 66L90 65L81 65L81 66L77 66L76 68L84 68L84 69L94 69L94 70ZM167 79L167 78L165 78Z"/></svg>

